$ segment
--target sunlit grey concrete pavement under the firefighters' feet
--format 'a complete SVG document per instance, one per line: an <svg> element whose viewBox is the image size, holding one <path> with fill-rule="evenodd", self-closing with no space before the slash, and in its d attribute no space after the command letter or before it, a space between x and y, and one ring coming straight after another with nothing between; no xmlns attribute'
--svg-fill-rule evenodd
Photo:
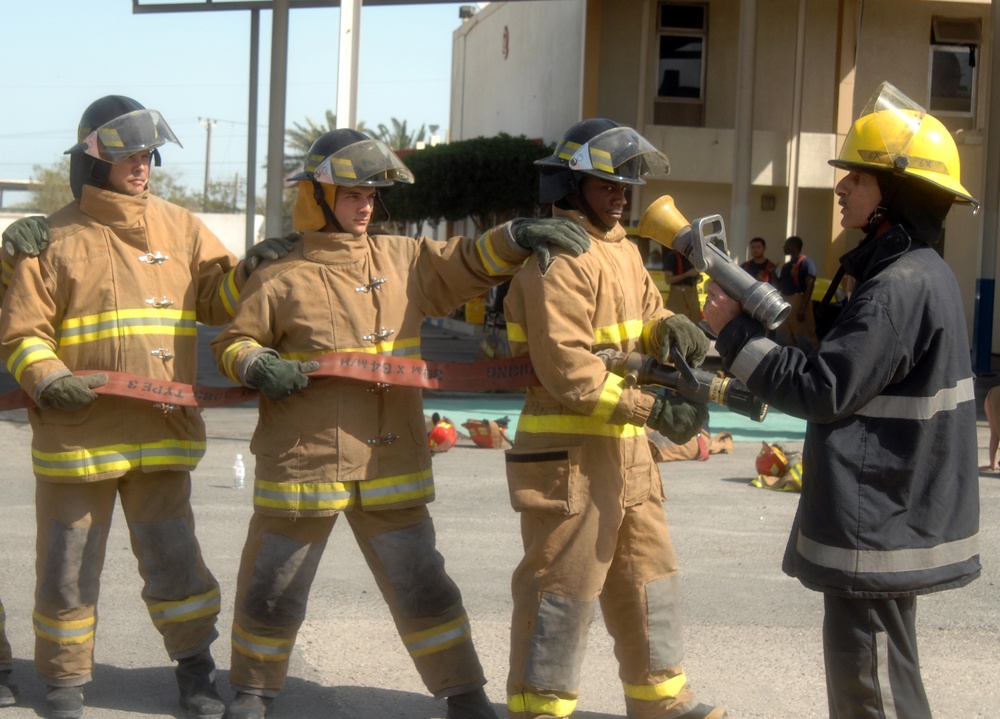
<svg viewBox="0 0 1000 719"><path fill-rule="evenodd" d="M193 503L205 559L223 590L222 638L214 650L223 695L228 632L251 490L230 489L236 453L253 458L253 408L209 410L209 448L194 478ZM980 423L985 460L988 433ZM43 686L30 657L34 563L30 429L23 412L0 416L5 458L0 525L0 596L15 653L22 704L0 719L39 715ZM685 667L705 700L725 703L734 719L825 717L820 653L820 595L781 574L779 562L797 496L755 489L755 443L707 462L661 464L668 512L681 562ZM519 559L517 518L510 509L502 455L468 440L435 460L438 501L431 506L439 546L462 588L490 683L503 716L510 616L509 580ZM919 629L924 676L940 719L992 717L1000 706L995 681L1000 615L1000 476L983 475L984 576L969 587L922 597ZM97 666L86 688L91 719L179 716L173 673L139 598L140 580L120 512L108 544L99 605ZM624 715L612 648L598 619L583 669L580 719ZM427 719L444 703L428 697L395 635L374 582L345 524L327 546L296 646L288 685L273 719Z"/></svg>

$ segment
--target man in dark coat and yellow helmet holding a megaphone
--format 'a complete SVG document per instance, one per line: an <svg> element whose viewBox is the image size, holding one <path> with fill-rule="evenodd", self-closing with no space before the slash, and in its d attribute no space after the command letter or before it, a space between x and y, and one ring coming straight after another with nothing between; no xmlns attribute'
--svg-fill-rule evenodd
<svg viewBox="0 0 1000 719"><path fill-rule="evenodd" d="M810 353L779 347L714 283L727 370L807 420L784 571L823 594L834 719L930 719L917 597L980 574L976 407L962 295L934 245L962 186L948 130L883 83L831 164L854 291ZM839 280L839 273L838 278Z"/></svg>

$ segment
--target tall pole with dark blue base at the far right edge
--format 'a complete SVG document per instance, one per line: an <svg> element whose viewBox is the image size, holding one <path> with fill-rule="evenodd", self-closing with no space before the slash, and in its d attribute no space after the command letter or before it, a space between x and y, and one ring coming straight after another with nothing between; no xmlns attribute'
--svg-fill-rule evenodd
<svg viewBox="0 0 1000 719"><path fill-rule="evenodd" d="M990 25L990 101L986 123L986 181L983 187L983 242L979 260L980 277L976 280L976 306L972 319L972 369L976 374L991 374L993 352L993 298L996 292L996 243L998 239L997 202L1000 201L1000 48L997 47L997 23L1000 0L993 0Z"/></svg>

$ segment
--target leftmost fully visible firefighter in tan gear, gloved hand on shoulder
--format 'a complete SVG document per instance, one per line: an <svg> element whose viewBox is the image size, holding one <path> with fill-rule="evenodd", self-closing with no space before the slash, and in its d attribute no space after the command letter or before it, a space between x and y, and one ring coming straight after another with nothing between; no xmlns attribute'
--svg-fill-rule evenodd
<svg viewBox="0 0 1000 719"><path fill-rule="evenodd" d="M177 661L181 706L189 717L218 718L225 705L209 647L219 585L202 560L190 504L191 471L205 452L200 412L93 389L107 381L102 371L193 383L196 322L229 320L260 257L237 264L194 215L150 192L158 148L180 144L155 110L103 97L83 113L77 139L67 151L76 199L47 222L24 218L4 233L8 254L19 236L44 250L13 264L0 352L36 404L35 666L48 687L46 716L83 714L120 496L142 598ZM74 374L82 370L98 373Z"/></svg>

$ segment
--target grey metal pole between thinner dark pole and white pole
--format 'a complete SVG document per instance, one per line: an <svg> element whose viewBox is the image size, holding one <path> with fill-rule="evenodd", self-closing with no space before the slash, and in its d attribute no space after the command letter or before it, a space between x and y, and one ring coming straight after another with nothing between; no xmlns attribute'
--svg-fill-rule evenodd
<svg viewBox="0 0 1000 719"><path fill-rule="evenodd" d="M285 188L285 78L288 76L288 0L274 0L271 20L271 92L267 127L268 237L281 235Z"/></svg>

